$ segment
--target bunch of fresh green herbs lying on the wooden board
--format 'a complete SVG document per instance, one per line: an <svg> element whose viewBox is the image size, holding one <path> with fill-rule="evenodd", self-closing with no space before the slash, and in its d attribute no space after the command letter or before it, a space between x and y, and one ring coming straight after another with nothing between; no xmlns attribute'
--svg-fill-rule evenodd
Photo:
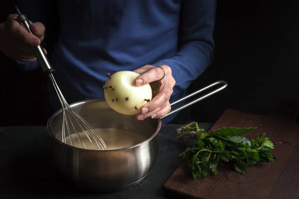
<svg viewBox="0 0 299 199"><path fill-rule="evenodd" d="M193 147L188 147L180 154L186 160L192 171L192 176L204 178L217 175L218 169L227 163L232 163L236 172L245 174L246 168L258 162L273 162L276 156L270 155L274 144L266 134L249 141L242 135L249 134L256 128L225 127L210 132L195 125L186 125L178 129L182 136L197 139Z"/></svg>

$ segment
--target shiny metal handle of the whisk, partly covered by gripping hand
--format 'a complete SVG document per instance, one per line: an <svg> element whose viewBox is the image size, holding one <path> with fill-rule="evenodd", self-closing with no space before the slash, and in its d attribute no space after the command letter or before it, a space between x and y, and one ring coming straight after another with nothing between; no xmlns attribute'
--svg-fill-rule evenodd
<svg viewBox="0 0 299 199"><path fill-rule="evenodd" d="M30 28L30 23L29 20L27 18L27 16L25 14L21 14L19 9L16 7L16 5L14 6L16 11L18 12L18 16L16 18L16 20L19 22L19 24L23 25L23 27L31 34L33 34L31 28ZM55 70L52 68L45 51L43 50L42 46L36 46L33 47L33 52L36 56L37 61L39 62L39 65L41 67L41 69L43 70L43 72L46 75L49 75L51 73L53 73Z"/></svg>

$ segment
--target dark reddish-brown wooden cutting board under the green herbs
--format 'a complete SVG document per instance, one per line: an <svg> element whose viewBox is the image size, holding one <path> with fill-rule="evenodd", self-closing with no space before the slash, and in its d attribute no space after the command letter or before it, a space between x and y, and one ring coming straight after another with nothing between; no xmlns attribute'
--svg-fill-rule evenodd
<svg viewBox="0 0 299 199"><path fill-rule="evenodd" d="M220 169L215 177L193 180L181 165L164 185L171 199L299 199L299 123L286 116L261 116L228 109L212 129L257 127L246 137L266 132L278 159L248 167L245 175Z"/></svg>

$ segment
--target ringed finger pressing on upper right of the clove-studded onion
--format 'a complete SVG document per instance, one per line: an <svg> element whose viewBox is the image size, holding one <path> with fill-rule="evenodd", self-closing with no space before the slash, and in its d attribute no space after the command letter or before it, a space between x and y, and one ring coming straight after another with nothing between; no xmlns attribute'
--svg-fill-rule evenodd
<svg viewBox="0 0 299 199"><path fill-rule="evenodd" d="M161 69L159 67L154 67L154 68L150 69L148 72L143 73L142 75L137 77L135 82L136 82L137 86L143 86L143 85L149 84L151 82L161 80L163 78L163 76L164 76L163 69Z"/></svg>

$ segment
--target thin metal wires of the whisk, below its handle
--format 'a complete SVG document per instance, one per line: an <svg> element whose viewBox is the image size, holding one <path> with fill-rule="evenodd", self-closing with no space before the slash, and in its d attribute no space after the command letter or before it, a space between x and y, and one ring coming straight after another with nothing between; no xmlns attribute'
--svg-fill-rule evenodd
<svg viewBox="0 0 299 199"><path fill-rule="evenodd" d="M81 146L86 149L86 146L80 135L81 133L84 133L91 142L94 150L107 150L105 142L97 133L97 131L92 128L78 113L76 113L64 99L52 74L49 74L49 78L56 90L62 106L62 142L66 143L66 140L69 139L71 146L74 146L72 134L70 133L74 132L77 135L78 141Z"/></svg>

